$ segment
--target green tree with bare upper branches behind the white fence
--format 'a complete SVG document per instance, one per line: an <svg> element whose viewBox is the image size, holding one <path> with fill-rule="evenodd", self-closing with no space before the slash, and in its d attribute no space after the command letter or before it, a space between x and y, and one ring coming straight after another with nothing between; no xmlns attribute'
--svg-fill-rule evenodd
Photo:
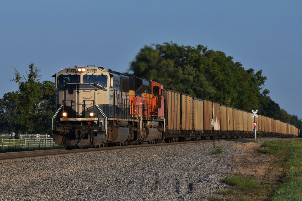
<svg viewBox="0 0 302 201"><path fill-rule="evenodd" d="M55 86L51 81L40 80L40 69L29 65L26 76L20 75L14 68L15 76L11 79L18 83L19 90L6 93L0 102L5 118L2 124L7 124L8 102L12 102L14 130L17 132L50 133L51 117L55 110ZM7 129L7 128L5 128Z"/></svg>

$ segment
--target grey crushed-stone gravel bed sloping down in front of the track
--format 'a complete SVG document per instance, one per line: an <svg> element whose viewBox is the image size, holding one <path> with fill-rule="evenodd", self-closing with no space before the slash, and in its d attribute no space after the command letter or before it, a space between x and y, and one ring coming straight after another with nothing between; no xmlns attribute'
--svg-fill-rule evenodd
<svg viewBox="0 0 302 201"><path fill-rule="evenodd" d="M79 153L0 164L0 200L206 200L242 150L213 142Z"/></svg>

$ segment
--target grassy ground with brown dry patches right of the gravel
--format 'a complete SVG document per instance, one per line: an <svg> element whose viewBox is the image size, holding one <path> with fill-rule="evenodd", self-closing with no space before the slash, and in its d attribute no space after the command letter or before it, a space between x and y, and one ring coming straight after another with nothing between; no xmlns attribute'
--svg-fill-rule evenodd
<svg viewBox="0 0 302 201"><path fill-rule="evenodd" d="M233 160L237 172L223 179L226 190L211 200L302 200L302 139L238 145L250 150ZM240 147L241 146L241 147Z"/></svg>

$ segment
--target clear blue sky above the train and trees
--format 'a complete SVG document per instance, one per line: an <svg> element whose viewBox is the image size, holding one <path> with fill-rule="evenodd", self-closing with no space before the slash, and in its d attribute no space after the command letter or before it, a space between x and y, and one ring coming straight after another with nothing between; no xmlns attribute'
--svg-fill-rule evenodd
<svg viewBox="0 0 302 201"><path fill-rule="evenodd" d="M0 97L18 90L13 67L26 74L34 62L42 81L69 65L126 72L144 45L173 41L262 69L271 99L302 118L301 9L302 1L0 1Z"/></svg>

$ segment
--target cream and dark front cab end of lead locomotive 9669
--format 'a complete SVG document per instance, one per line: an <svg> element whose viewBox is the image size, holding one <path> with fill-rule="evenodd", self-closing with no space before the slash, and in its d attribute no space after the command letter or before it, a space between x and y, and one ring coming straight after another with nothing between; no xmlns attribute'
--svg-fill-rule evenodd
<svg viewBox="0 0 302 201"><path fill-rule="evenodd" d="M95 66L70 66L53 77L56 84L54 141L65 146L104 143L109 72Z"/></svg>

